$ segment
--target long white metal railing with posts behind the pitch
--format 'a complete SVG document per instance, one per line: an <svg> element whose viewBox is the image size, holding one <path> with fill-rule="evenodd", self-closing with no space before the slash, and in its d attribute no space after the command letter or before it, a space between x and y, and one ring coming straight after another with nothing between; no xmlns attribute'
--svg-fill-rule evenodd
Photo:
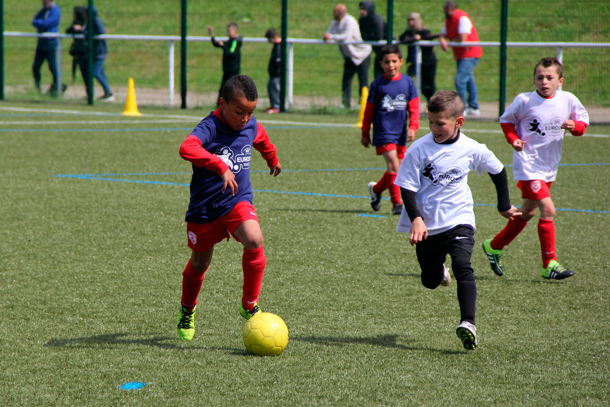
<svg viewBox="0 0 610 407"><path fill-rule="evenodd" d="M59 38L58 45L58 65L61 66L61 50L62 50L62 38L85 38L83 34L59 34L56 32L45 32L43 34L36 34L31 32L17 32L17 31L5 31L5 37L43 37L43 38ZM168 42L168 88L169 88L169 103L170 106L174 101L174 43L181 41L179 35L122 35L122 34L104 34L97 35L95 38L102 40L134 40L134 41L167 41ZM228 37L217 37L219 40L228 40ZM187 41L210 41L210 37L196 37L189 35L186 37ZM267 38L243 38L246 43L267 43ZM287 38L287 55L286 55L286 102L288 103L288 109L293 104L293 87L294 87L294 45L295 44L318 44L318 45L336 45L336 41L324 41L312 38ZM387 41L346 41L346 44L370 44L370 45L386 45ZM394 44L400 44L399 41L393 41ZM414 45L416 52L415 60L415 85L417 86L417 92L421 93L421 77L422 77L422 47L425 46L440 46L439 41L414 41L410 44L401 45ZM450 46L481 46L481 47L499 47L500 42L495 41L480 41L480 42L449 42ZM610 48L610 43L584 43L584 42L507 42L508 48L534 48L534 47L545 47L555 48L556 57L559 62L563 58L564 48ZM61 70L58 71L58 82L61 84Z"/></svg>

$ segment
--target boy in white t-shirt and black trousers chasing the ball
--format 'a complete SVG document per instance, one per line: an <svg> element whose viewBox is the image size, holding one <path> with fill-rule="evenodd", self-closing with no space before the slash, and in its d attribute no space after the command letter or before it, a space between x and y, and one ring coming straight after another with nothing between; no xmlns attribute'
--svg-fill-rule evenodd
<svg viewBox="0 0 610 407"><path fill-rule="evenodd" d="M404 208L397 231L409 233L428 289L451 281L447 254L458 284L461 322L456 330L465 349L477 346L476 284L470 256L475 245L475 214L468 173L487 171L498 193L498 211L506 218L520 215L508 193L506 169L481 143L460 131L464 103L458 93L440 90L428 103L430 131L407 149L395 184Z"/></svg>

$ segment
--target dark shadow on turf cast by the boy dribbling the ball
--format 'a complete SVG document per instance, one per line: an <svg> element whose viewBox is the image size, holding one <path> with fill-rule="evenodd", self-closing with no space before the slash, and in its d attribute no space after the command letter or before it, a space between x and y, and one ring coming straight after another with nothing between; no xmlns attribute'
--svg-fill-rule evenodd
<svg viewBox="0 0 610 407"><path fill-rule="evenodd" d="M51 339L46 342L45 346L54 348L107 348L115 349L125 345L144 345L153 346L163 349L188 349L188 350L223 350L230 351L235 355L247 355L245 350L240 348L219 348L207 346L187 346L187 342L179 340L173 336L162 336L155 333L138 334L140 337L134 337L132 334L102 334L81 338L65 338Z"/></svg>

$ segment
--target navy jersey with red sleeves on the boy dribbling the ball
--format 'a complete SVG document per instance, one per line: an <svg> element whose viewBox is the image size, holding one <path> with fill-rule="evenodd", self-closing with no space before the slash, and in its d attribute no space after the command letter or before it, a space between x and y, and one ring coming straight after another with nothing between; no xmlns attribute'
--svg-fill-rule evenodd
<svg viewBox="0 0 610 407"><path fill-rule="evenodd" d="M252 149L260 151L269 167L278 164L276 149L263 126L251 117L239 131L220 118L218 109L201 120L181 145L180 155L193 164L187 222L212 222L238 202L253 203L250 184ZM237 192L224 192L220 177L227 169L235 175Z"/></svg>

